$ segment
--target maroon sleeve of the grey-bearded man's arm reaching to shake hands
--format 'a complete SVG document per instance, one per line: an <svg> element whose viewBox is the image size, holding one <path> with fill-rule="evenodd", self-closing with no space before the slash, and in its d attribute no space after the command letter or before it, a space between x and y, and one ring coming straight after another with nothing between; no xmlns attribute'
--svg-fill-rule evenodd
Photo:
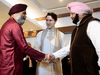
<svg viewBox="0 0 100 75"><path fill-rule="evenodd" d="M45 57L45 54L34 50L27 45L27 42L23 35L22 27L19 24L15 23L11 28L11 32L14 40L16 41L17 45L23 53L38 61L41 61Z"/></svg>

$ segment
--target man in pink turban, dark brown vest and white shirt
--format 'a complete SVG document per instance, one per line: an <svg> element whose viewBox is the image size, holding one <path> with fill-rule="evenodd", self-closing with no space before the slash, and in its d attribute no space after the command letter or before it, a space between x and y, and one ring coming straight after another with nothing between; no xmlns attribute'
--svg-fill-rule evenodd
<svg viewBox="0 0 100 75"><path fill-rule="evenodd" d="M70 51L71 75L99 75L100 21L92 17L93 10L84 3L69 3L67 9L77 26L72 32L71 43L51 54L49 61L65 57Z"/></svg>

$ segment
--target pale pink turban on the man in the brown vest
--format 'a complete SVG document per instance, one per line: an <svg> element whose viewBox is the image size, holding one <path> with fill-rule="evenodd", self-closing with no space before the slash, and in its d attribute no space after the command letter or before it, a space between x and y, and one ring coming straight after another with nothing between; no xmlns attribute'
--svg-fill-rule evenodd
<svg viewBox="0 0 100 75"><path fill-rule="evenodd" d="M90 11L93 12L93 10L88 5L81 3L81 2L69 3L67 5L67 9L68 9L69 12L74 12L74 13L77 13L77 14L82 14L87 10L90 10Z"/></svg>

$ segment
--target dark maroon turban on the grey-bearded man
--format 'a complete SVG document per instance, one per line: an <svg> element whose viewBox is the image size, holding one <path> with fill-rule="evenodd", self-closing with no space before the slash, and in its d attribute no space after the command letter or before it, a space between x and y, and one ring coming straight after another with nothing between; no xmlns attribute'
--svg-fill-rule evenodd
<svg viewBox="0 0 100 75"><path fill-rule="evenodd" d="M26 10L26 8L27 8L26 4L16 4L10 9L8 14L11 16L12 14Z"/></svg>

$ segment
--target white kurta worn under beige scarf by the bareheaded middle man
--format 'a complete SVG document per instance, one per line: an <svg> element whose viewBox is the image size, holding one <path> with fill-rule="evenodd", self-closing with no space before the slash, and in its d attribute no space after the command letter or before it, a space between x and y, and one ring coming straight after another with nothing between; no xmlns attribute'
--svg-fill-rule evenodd
<svg viewBox="0 0 100 75"><path fill-rule="evenodd" d="M54 38L51 41L48 39L49 32L50 32L50 30L47 30L47 34L46 34L45 39L43 41L42 52L45 53L45 54L52 54L53 49L54 49L54 45L55 45L55 39ZM36 50L40 50L42 33L43 33L43 31L39 32L38 35L37 35L35 45L34 45L34 48ZM54 37L54 31L52 33L53 33L53 35L50 36L50 37ZM66 46L66 39L65 39L65 35L62 32L60 32L60 35L61 35L61 42L62 42L61 48L63 48L63 47ZM62 71L61 60L60 60L59 66L60 66L60 69ZM38 62L37 61L36 75L55 75L55 71L53 69L53 63L47 64L45 62ZM56 73L56 75L62 75L62 74Z"/></svg>

